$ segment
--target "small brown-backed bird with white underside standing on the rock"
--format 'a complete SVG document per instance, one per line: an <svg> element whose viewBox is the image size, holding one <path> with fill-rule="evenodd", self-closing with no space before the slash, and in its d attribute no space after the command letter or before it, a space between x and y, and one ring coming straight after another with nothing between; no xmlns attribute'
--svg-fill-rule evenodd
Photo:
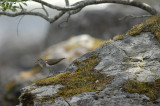
<svg viewBox="0 0 160 106"><path fill-rule="evenodd" d="M58 64L60 61L62 61L64 59L66 59L66 58L47 59L47 60L43 60L43 59L39 58L36 61L36 64L39 64L42 69L49 69L49 72L51 73L51 70L53 70L52 69L53 66Z"/></svg>

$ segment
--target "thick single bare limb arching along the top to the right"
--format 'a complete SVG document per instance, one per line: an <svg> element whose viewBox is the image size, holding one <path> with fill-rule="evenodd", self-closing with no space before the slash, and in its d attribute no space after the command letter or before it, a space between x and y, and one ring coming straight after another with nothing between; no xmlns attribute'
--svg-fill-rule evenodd
<svg viewBox="0 0 160 106"><path fill-rule="evenodd" d="M77 10L79 8L84 8L85 6L93 5L93 4L116 3L116 4L135 6L135 7L141 8L149 12L152 15L157 14L157 11L151 6L149 6L148 4L134 1L134 0L85 0L85 1L80 1L78 3L73 4L72 6L67 6L67 7L60 7L60 6L52 5L42 0L33 0L33 1L44 4L52 9L56 9L60 11Z"/></svg>

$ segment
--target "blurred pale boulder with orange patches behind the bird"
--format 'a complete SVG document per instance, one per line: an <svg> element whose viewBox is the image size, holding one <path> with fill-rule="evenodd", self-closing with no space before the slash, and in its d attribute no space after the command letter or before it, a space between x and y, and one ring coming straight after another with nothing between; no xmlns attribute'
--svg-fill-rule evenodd
<svg viewBox="0 0 160 106"><path fill-rule="evenodd" d="M83 55L84 53L97 48L100 44L102 44L102 40L93 38L90 35L84 34L74 36L66 41L50 46L44 52L42 52L39 57L43 59L61 57L66 58L54 67L52 74L56 75L58 73L64 72L66 66L71 61ZM11 105L16 105L19 103L18 97L20 96L20 89L38 79L46 78L48 73L49 72L41 69L41 67L38 65L30 70L19 73L6 84L6 89L4 92L5 101Z"/></svg>

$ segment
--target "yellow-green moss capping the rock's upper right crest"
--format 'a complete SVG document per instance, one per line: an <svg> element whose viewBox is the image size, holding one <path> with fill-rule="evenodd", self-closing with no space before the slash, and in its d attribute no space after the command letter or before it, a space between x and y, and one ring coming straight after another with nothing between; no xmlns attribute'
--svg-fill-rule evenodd
<svg viewBox="0 0 160 106"><path fill-rule="evenodd" d="M126 33L126 35L134 36L140 34L141 32L153 33L160 42L160 14L151 17L141 24L135 25Z"/></svg>

